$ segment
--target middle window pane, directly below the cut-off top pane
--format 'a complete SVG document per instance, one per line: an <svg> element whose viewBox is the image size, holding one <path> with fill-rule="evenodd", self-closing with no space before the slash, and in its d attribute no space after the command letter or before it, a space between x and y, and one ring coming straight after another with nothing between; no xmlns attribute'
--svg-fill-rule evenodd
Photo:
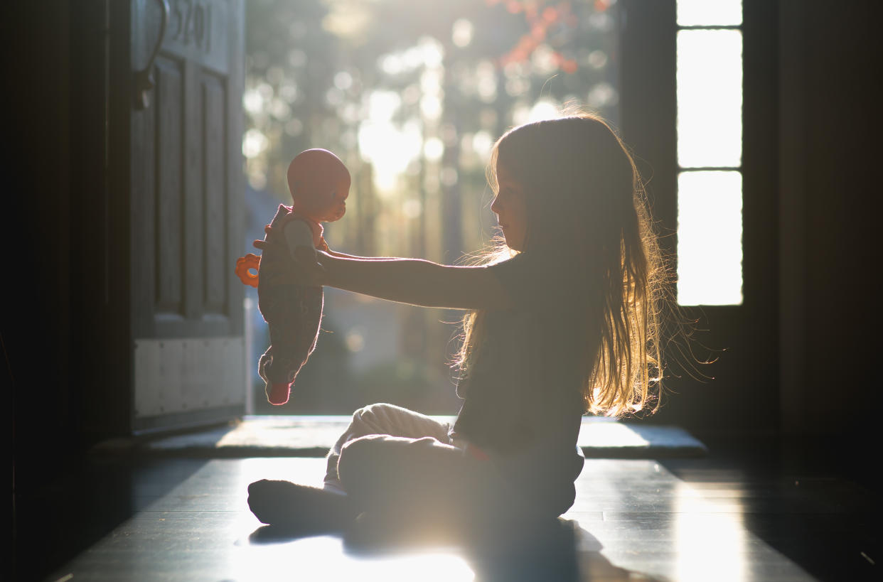
<svg viewBox="0 0 883 582"><path fill-rule="evenodd" d="M677 34L677 162L742 165L742 33Z"/></svg>

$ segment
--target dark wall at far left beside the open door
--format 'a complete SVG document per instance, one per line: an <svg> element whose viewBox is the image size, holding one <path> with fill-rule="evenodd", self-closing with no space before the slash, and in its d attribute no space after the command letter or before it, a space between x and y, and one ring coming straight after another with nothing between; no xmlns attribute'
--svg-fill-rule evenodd
<svg viewBox="0 0 883 582"><path fill-rule="evenodd" d="M16 482L26 488L130 424L130 382L119 373L131 341L120 203L128 188L119 178L127 133L115 131L123 147L108 140L109 126L128 123L129 102L109 87L130 74L125 45L113 45L127 34L110 34L125 33L128 11L105 0L7 4L15 152L3 234L9 273L23 277L4 289L4 384ZM123 7L116 20L111 5Z"/></svg>

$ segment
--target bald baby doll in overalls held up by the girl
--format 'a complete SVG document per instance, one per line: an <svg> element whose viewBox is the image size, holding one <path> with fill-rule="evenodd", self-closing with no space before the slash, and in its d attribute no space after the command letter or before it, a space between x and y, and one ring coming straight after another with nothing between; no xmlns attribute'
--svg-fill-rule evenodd
<svg viewBox="0 0 883 582"><path fill-rule="evenodd" d="M298 154L288 167L291 208L279 206L265 238L285 244L264 249L257 277L247 272L257 257L248 255L237 263L244 283L257 279L258 306L269 328L270 346L260 356L258 373L267 383L270 404L288 402L294 378L315 348L322 316L322 288L292 283L291 261L305 260L303 250L296 257L300 247L310 249L313 256L316 247L328 250L320 223L343 216L350 183L350 172L328 150Z"/></svg>

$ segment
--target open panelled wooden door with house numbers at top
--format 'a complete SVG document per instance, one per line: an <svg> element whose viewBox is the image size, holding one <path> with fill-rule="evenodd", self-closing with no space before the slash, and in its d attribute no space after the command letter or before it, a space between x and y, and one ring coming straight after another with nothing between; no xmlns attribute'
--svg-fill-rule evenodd
<svg viewBox="0 0 883 582"><path fill-rule="evenodd" d="M131 68L152 66L153 79L142 92L133 77L131 100L138 432L244 411L244 292L233 266L242 246L245 17L239 0L131 6Z"/></svg>

